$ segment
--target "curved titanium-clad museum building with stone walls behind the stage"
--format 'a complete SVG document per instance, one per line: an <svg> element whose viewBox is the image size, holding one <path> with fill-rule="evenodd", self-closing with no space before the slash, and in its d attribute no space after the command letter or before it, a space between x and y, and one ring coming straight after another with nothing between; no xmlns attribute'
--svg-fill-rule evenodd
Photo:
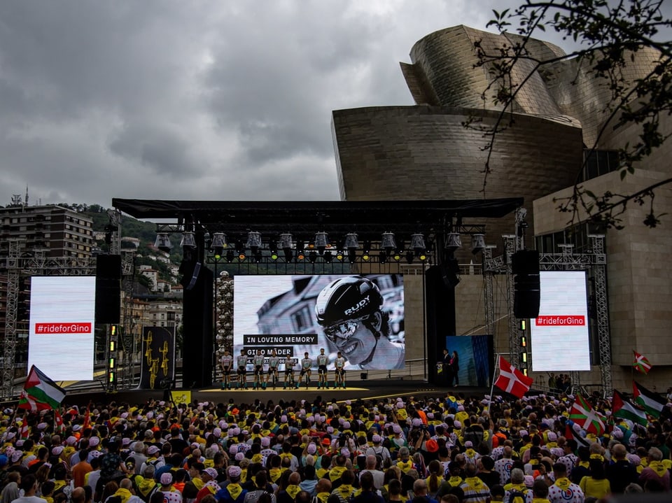
<svg viewBox="0 0 672 503"><path fill-rule="evenodd" d="M672 142L654 150L633 175L621 181L615 150L634 143L638 128L618 122L605 125L610 94L604 82L574 59L556 62L535 72L517 94L514 125L496 136L484 190L486 139L463 122L471 117L491 126L498 109L491 100L482 99L484 92L488 94L489 73L475 66L474 43L480 40L488 51L515 39L520 37L465 26L436 31L415 43L411 64L401 64L414 106L333 111L341 197L348 201L524 197L529 225L526 246L541 253L561 253L559 245L567 243L573 245L573 253L582 253L589 244L588 234L605 234L613 384L622 390L631 388L632 352L636 350L653 366L650 374L638 374L636 379L647 388L665 391L672 382L670 185L656 191L655 213L667 214L655 229L643 225L648 204L631 204L622 215L622 230L568 227L570 214L558 211L556 199L571 194L584 155L601 129L597 151L589 155L579 178L596 194L605 190L628 194L670 178ZM528 50L537 59L563 55L560 48L544 41L532 40ZM656 59L654 52L637 52L625 69L626 78L645 76ZM520 62L514 78L522 80L531 70L532 63ZM661 125L664 133L670 132L668 116L661 118ZM486 225L486 243L497 246L493 256L503 253L501 236L515 232L512 220L479 223ZM456 333L484 334L484 282L479 264L473 264L468 251L457 255L463 274L455 288ZM502 276L496 276L495 282L495 347L505 354L509 348L506 287ZM405 283L413 288L412 281ZM411 309L407 306L407 312ZM408 323L407 333L423 330L419 320L415 326L411 319ZM600 382L594 333L591 353L593 371L581 372L581 383ZM535 383L546 383L548 377L531 375Z"/></svg>

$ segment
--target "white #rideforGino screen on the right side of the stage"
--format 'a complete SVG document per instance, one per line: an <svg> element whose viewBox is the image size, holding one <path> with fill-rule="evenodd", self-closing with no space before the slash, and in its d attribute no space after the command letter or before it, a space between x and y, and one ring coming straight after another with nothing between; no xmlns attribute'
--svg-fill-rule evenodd
<svg viewBox="0 0 672 503"><path fill-rule="evenodd" d="M532 370L590 370L585 271L541 271L539 316L531 320Z"/></svg>

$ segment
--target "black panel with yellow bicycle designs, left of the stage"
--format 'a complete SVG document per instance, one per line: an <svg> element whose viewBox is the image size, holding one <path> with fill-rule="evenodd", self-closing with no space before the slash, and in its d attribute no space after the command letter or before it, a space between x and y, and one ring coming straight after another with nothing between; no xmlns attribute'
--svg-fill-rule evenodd
<svg viewBox="0 0 672 503"><path fill-rule="evenodd" d="M141 390L161 390L171 387L175 378L174 327L143 327Z"/></svg>

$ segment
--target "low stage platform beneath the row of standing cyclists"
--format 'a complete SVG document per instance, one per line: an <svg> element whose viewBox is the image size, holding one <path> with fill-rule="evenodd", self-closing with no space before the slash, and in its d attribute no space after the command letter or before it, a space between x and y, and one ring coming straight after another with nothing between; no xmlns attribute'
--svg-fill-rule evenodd
<svg viewBox="0 0 672 503"><path fill-rule="evenodd" d="M188 393L185 393L188 392ZM202 389L184 390L176 388L171 390L173 399L181 401L181 398L189 397L192 402L215 402L228 403L232 401L236 404L253 403L256 400L267 403L271 400L278 403L306 400L315 402L317 399L327 402L344 402L345 400L356 399L385 399L396 397L413 396L416 399L431 397L434 399L445 397L448 393L459 397L477 396L482 397L489 392L488 388L476 388L470 386L457 386L454 388L442 388L441 386L427 383L426 381L405 381L405 380L384 380L384 381L353 381L346 389L332 388L327 390L318 390L316 385L311 385L308 389L303 386L300 389L283 390L282 386L275 390L267 388L266 390L252 390L248 385L246 390L221 390L217 386L209 386ZM89 402L94 404L142 404L148 400L163 400L167 397L167 390L120 390L117 392L88 391L80 393L68 393L64 399L64 404L86 406Z"/></svg>

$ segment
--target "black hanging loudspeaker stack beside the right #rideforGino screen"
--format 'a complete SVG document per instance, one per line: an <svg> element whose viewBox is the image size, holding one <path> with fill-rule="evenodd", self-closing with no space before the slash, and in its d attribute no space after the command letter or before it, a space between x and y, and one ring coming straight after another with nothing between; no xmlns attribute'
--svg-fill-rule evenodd
<svg viewBox="0 0 672 503"><path fill-rule="evenodd" d="M541 288L538 250L519 250L512 255L514 274L513 313L516 318L539 316Z"/></svg>

